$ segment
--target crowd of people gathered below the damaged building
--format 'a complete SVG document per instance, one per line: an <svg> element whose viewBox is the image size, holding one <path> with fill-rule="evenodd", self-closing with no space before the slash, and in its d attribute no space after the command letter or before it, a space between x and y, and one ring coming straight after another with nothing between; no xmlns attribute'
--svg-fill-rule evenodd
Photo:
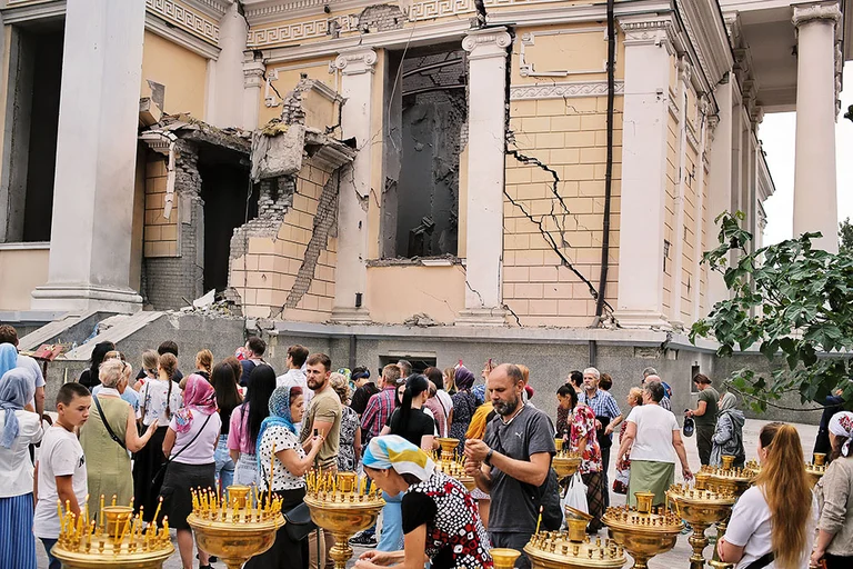
<svg viewBox="0 0 853 569"><path fill-rule="evenodd" d="M561 527L555 439L582 458L591 535L602 528L611 492L634 505L634 492L650 491L661 505L676 470L692 478L682 438L693 435L691 422L702 465L746 458L736 397L721 396L703 375L693 378L698 405L684 411L682 431L672 389L652 368L630 388L624 411L610 393L613 378L595 368L572 371L556 390L553 420L533 402L530 370L521 365L489 360L478 381L461 361L418 372L399 360L374 379L368 368L335 369L329 356L295 345L277 375L263 359L263 340L249 338L219 362L200 351L185 375L178 346L164 341L139 355L134 376L130 355L102 342L78 380L59 389L56 420L46 425L41 370L16 347L14 329L0 326L0 567L34 569L34 535L49 569L59 569L51 555L57 501L80 513L87 497L104 496L132 501L147 521L168 516L182 566L204 569L215 559L187 523L191 489L257 485L290 512L303 503L307 473L321 469L363 471L385 500L379 527L351 540L369 549L357 568L421 569L424 560L435 569L488 568L491 548L523 551L538 528ZM796 430L762 429L763 468L716 545L721 559L737 569L853 567L853 413L836 409L825 431L831 462L812 491ZM441 437L459 439L473 491L436 468ZM247 567L333 566L331 533L298 533L285 525ZM516 567L530 567L526 556Z"/></svg>

